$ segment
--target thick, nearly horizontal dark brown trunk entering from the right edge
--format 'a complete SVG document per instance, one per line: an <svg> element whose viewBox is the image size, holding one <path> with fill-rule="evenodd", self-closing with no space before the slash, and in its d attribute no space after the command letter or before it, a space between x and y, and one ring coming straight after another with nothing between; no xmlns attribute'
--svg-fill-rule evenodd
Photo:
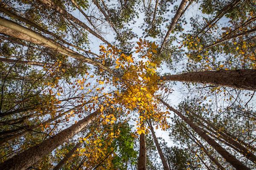
<svg viewBox="0 0 256 170"><path fill-rule="evenodd" d="M246 90L256 90L256 70L219 70L219 71L198 71L177 75L160 77L160 80L170 80L179 82L198 82L239 88Z"/></svg>

